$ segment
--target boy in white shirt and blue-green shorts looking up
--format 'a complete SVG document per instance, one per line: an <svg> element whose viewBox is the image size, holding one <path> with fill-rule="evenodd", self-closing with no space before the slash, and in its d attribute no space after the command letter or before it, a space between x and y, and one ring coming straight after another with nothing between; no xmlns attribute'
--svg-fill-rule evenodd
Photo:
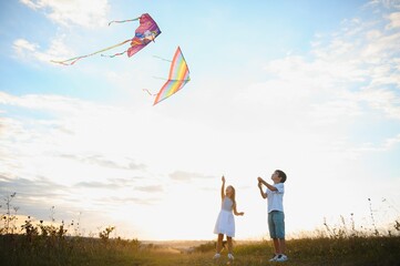
<svg viewBox="0 0 400 266"><path fill-rule="evenodd" d="M284 213L284 183L286 174L276 170L270 177L273 185L258 177L258 188L263 198L268 198L268 228L270 238L274 241L275 255L269 262L286 262L285 253L285 213ZM267 187L263 191L263 184Z"/></svg>

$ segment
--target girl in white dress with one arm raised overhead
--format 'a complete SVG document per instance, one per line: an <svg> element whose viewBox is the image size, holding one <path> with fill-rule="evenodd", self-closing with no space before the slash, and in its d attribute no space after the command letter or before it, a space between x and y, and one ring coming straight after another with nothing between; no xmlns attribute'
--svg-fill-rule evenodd
<svg viewBox="0 0 400 266"><path fill-rule="evenodd" d="M244 215L245 213L238 213L236 211L236 201L235 201L235 188L233 186L227 186L225 191L225 176L222 177L223 185L220 187L220 198L222 207L215 223L214 234L218 234L217 242L217 253L214 255L214 258L220 257L220 250L223 249L223 239L226 235L228 242L228 258L234 259L232 255L232 237L235 236L235 215ZM233 213L232 213L233 211Z"/></svg>

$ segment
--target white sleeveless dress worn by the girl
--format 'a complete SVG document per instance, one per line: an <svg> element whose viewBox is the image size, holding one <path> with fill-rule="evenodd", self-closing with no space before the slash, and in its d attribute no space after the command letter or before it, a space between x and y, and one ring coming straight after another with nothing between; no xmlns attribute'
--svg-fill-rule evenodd
<svg viewBox="0 0 400 266"><path fill-rule="evenodd" d="M215 223L214 234L224 234L235 237L235 218L233 214L234 203L229 197L224 197L218 214L217 222Z"/></svg>

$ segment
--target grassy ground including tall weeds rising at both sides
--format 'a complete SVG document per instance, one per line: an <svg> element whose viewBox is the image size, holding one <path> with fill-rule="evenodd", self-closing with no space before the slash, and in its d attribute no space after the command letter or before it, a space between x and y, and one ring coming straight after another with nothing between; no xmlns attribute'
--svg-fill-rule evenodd
<svg viewBox="0 0 400 266"><path fill-rule="evenodd" d="M215 242L206 242L189 248L189 252L172 253L156 244L137 239L110 238L114 226L99 232L98 237L83 237L74 228L71 235L64 223L45 224L27 217L20 228L16 226L17 211L12 200L4 197L4 214L0 227L0 265L274 265L269 263L273 246L270 241L236 243L235 260L226 258L226 250L219 260L213 260ZM371 201L369 200L371 206ZM286 265L382 265L400 266L400 223L394 221L390 228L380 231L375 224L370 207L371 228L357 228L351 214L347 221L340 216L340 224L329 225L326 221L320 231L287 241ZM52 219L52 222L55 222Z"/></svg>

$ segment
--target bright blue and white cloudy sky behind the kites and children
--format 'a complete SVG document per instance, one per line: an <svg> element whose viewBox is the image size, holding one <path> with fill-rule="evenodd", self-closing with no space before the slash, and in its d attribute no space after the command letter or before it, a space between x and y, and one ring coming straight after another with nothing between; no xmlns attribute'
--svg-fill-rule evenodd
<svg viewBox="0 0 400 266"><path fill-rule="evenodd" d="M214 239L224 175L245 212L236 238L264 239L257 177L279 168L288 237L399 219L400 1L0 6L2 214L16 192L19 223ZM142 13L162 33L134 57L51 62L133 38L137 21L107 23ZM153 106L144 89L161 89L177 47L191 81Z"/></svg>

